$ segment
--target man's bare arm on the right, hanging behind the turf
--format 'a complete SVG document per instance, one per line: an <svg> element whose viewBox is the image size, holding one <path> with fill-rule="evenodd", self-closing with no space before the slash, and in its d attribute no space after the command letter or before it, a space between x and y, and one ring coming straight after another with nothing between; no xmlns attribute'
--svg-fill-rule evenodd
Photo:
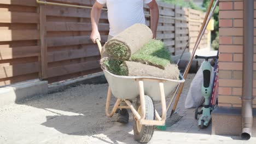
<svg viewBox="0 0 256 144"><path fill-rule="evenodd" d="M153 0L148 3L148 7L150 9L150 28L153 32L153 38L156 38L156 29L158 28L158 20L159 20L159 9L158 4Z"/></svg>

